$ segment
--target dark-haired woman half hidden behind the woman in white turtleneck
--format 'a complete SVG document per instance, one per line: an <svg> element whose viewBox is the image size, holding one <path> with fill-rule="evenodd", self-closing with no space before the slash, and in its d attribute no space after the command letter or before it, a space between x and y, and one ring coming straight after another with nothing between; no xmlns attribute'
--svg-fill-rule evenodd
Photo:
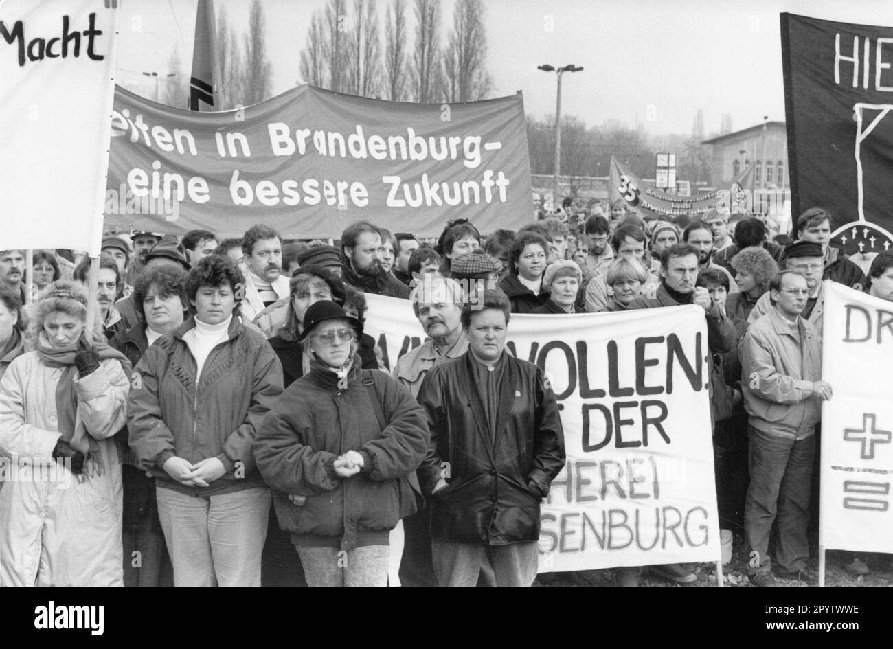
<svg viewBox="0 0 893 649"><path fill-rule="evenodd" d="M183 324L189 309L186 278L186 271L170 266L146 270L138 276L132 298L140 322L136 327L119 331L109 341L109 346L127 356L132 367L137 366L155 340ZM130 451L126 428L115 441L119 442L124 484L124 586L173 586L171 557L164 544L155 501L155 478L146 476ZM140 558L136 566L133 565L134 552L138 552Z"/></svg>

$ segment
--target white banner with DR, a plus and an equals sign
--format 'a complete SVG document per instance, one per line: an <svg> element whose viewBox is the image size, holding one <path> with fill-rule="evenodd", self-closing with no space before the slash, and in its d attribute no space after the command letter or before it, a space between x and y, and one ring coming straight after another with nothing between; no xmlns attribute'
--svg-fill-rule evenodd
<svg viewBox="0 0 893 649"><path fill-rule="evenodd" d="M819 545L889 552L893 538L893 303L824 283Z"/></svg>

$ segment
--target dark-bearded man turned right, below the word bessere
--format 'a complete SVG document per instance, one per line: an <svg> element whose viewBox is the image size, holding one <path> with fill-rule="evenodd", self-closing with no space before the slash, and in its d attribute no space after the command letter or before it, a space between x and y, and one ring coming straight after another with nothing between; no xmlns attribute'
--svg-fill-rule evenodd
<svg viewBox="0 0 893 649"><path fill-rule="evenodd" d="M381 235L369 221L358 220L341 233L346 284L363 293L409 298L409 287L381 267Z"/></svg>

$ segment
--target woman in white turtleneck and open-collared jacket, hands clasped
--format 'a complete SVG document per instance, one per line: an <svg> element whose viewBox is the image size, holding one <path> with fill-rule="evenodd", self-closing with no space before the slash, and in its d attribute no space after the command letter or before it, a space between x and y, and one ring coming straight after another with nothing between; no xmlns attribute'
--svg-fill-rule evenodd
<svg viewBox="0 0 893 649"><path fill-rule="evenodd" d="M187 279L196 316L146 349L131 379L129 443L156 477L178 587L261 585L271 496L254 443L282 370L238 319L244 283L225 257L198 262Z"/></svg>

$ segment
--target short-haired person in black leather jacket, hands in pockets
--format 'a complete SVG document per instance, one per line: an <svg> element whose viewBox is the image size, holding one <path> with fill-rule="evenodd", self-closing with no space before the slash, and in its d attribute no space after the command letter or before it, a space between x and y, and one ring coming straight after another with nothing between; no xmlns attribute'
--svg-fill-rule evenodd
<svg viewBox="0 0 893 649"><path fill-rule="evenodd" d="M543 370L505 352L510 311L498 289L465 304L468 351L419 390L431 430L419 477L440 587L476 586L486 563L497 587L530 587L537 574L539 506L563 469L564 437Z"/></svg>

